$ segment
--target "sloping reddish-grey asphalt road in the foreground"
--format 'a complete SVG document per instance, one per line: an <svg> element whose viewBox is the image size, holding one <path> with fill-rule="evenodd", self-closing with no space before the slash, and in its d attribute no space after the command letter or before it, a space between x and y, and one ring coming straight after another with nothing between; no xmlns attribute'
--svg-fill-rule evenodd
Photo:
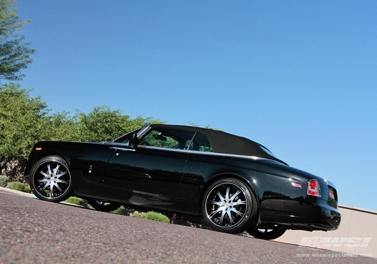
<svg viewBox="0 0 377 264"><path fill-rule="evenodd" d="M0 263L377 263L377 259L0 193Z"/></svg>

